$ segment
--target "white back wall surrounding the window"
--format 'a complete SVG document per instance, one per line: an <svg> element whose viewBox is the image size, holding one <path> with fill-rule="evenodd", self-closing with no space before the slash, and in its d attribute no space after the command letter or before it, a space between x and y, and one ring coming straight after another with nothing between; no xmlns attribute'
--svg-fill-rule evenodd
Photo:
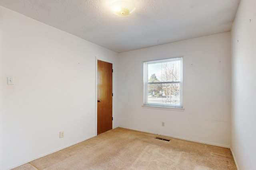
<svg viewBox="0 0 256 170"><path fill-rule="evenodd" d="M230 55L230 32L120 53L119 126L230 147ZM185 110L142 108L143 61L177 56Z"/></svg>

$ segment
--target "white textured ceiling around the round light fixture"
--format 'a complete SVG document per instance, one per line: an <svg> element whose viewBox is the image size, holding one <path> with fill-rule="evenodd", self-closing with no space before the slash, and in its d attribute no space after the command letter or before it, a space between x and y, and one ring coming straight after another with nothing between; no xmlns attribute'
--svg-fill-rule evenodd
<svg viewBox="0 0 256 170"><path fill-rule="evenodd" d="M118 53L230 31L240 0L130 0L127 17L113 0L0 0L0 6Z"/></svg>

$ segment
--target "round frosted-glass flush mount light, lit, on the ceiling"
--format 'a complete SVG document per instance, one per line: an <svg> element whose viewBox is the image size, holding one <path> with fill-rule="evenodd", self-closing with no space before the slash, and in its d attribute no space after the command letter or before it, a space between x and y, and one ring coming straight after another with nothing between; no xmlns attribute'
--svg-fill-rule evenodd
<svg viewBox="0 0 256 170"><path fill-rule="evenodd" d="M128 0L116 0L111 4L111 10L117 16L128 16L134 12L135 6Z"/></svg>

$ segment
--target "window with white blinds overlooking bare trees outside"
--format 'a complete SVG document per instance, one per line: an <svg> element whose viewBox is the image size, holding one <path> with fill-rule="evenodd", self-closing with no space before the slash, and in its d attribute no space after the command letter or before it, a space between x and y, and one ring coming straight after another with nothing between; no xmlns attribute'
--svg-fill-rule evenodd
<svg viewBox="0 0 256 170"><path fill-rule="evenodd" d="M182 57L144 62L144 106L182 108Z"/></svg>

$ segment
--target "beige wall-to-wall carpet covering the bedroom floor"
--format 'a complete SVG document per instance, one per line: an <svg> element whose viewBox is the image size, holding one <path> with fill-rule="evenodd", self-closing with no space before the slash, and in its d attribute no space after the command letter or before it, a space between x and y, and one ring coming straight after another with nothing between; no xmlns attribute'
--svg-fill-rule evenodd
<svg viewBox="0 0 256 170"><path fill-rule="evenodd" d="M236 166L230 149L119 127L13 170L117 169L236 170Z"/></svg>

